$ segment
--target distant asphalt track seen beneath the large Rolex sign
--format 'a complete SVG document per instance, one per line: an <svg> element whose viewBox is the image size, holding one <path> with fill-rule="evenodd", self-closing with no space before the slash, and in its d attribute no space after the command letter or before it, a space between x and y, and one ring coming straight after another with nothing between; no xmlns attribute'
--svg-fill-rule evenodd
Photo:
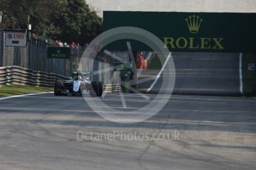
<svg viewBox="0 0 256 170"><path fill-rule="evenodd" d="M240 94L239 53L219 52L172 52L175 64L176 95L223 95ZM140 78L157 75L159 70L142 71ZM162 75L159 84L151 92L159 92L161 81L168 75ZM139 84L145 92L153 81Z"/></svg>

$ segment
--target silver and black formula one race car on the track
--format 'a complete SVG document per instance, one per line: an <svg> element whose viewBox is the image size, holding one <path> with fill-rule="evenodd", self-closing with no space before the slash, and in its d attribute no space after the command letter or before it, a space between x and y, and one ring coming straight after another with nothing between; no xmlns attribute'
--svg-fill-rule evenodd
<svg viewBox="0 0 256 170"><path fill-rule="evenodd" d="M91 72L73 72L69 80L57 80L54 95L82 95L102 96L102 82L91 81Z"/></svg>

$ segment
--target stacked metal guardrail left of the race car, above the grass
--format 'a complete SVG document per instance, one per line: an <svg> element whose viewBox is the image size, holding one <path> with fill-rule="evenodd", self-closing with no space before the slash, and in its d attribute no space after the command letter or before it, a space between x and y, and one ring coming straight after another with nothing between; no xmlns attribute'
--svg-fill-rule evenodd
<svg viewBox="0 0 256 170"><path fill-rule="evenodd" d="M18 66L0 67L0 85L21 84L50 87L54 86L56 79L66 79L66 77Z"/></svg>

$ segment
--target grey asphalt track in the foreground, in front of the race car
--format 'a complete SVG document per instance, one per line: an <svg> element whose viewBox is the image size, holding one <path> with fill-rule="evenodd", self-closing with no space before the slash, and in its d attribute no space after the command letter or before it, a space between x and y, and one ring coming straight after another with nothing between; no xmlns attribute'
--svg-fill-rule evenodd
<svg viewBox="0 0 256 170"><path fill-rule="evenodd" d="M136 94L125 100L135 108L145 104ZM166 100L157 115L132 124L101 118L78 96L1 100L0 169L255 169L255 98L172 95ZM122 106L118 94L102 101ZM79 131L88 138L78 139ZM93 138L114 132L135 135ZM136 134L174 138L138 140Z"/></svg>

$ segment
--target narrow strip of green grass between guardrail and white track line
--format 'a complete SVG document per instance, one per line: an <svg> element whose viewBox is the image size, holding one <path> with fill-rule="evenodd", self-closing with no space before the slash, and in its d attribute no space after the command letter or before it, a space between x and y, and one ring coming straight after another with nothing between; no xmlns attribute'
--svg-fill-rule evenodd
<svg viewBox="0 0 256 170"><path fill-rule="evenodd" d="M25 95L36 92L53 92L53 88L42 86L9 85L0 86L0 98L13 95Z"/></svg>

